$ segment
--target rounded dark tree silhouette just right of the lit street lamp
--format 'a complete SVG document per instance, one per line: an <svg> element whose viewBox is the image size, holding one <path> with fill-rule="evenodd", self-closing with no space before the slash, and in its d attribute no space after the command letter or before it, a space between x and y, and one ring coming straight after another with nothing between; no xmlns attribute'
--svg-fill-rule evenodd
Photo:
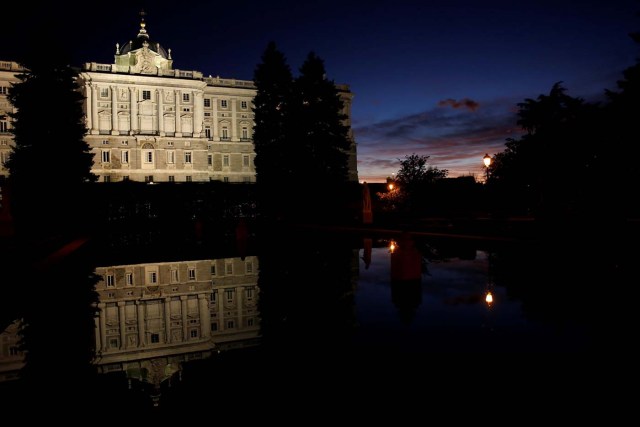
<svg viewBox="0 0 640 427"><path fill-rule="evenodd" d="M549 94L518 104L520 139L508 139L495 156L489 183L499 199L520 200L541 218L566 218L608 205L592 198L602 150L600 106L566 94L562 82Z"/></svg>

